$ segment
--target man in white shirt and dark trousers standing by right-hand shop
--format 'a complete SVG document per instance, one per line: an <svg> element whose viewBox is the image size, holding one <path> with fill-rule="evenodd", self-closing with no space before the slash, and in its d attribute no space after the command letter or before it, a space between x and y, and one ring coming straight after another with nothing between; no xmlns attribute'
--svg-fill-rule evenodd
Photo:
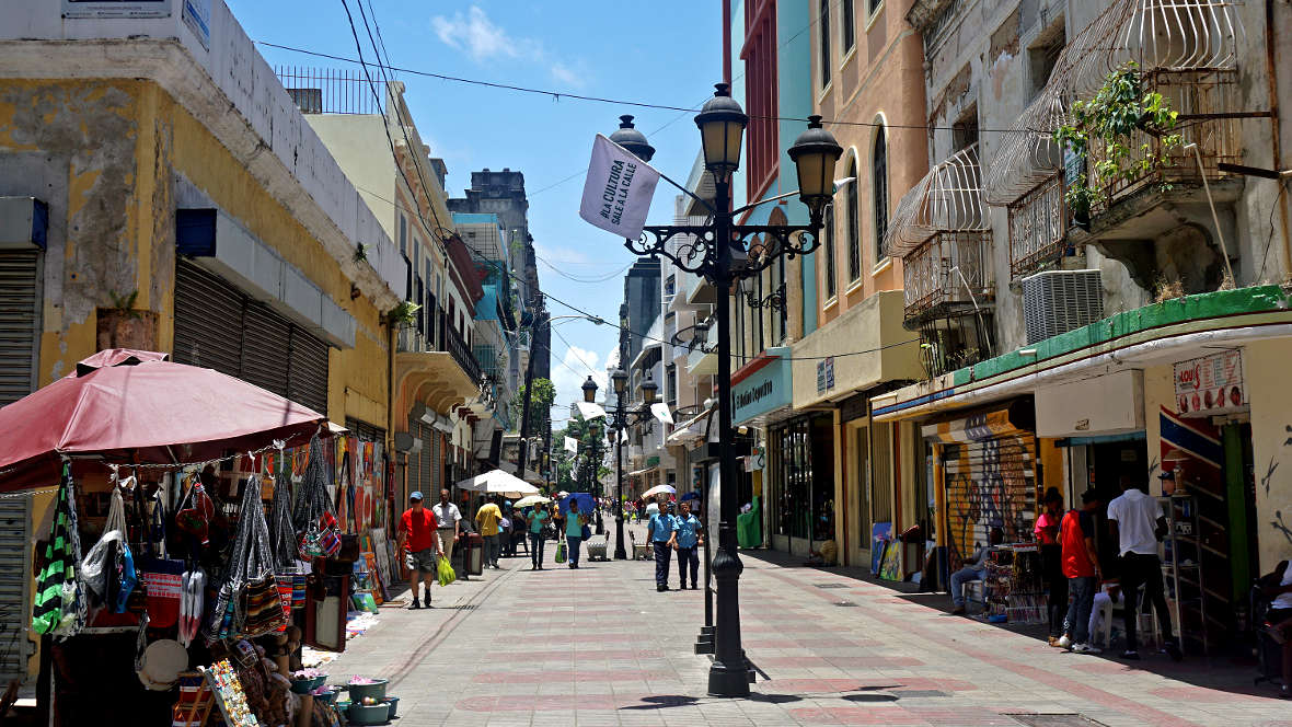
<svg viewBox="0 0 1292 727"><path fill-rule="evenodd" d="M1136 639L1138 608L1134 607L1140 585L1145 586L1145 600L1151 602L1158 611L1158 624L1165 631L1163 644L1171 659L1180 661L1183 655L1174 640L1174 628L1171 624L1171 609L1167 608L1167 595L1162 584L1162 559L1158 557L1158 542L1167 535L1167 518L1162 504L1141 491L1134 478L1121 475L1121 496L1109 502L1109 527L1112 538L1118 541L1121 555L1121 590L1125 593L1125 631L1127 650L1121 659L1140 659L1140 643ZM1147 606L1147 603L1145 604Z"/></svg>

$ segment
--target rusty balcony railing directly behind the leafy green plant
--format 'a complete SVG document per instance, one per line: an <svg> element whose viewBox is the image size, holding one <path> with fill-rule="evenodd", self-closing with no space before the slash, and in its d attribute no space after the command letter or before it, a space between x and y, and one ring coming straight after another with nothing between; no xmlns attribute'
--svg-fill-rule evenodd
<svg viewBox="0 0 1292 727"><path fill-rule="evenodd" d="M1132 154L1147 150L1154 156L1165 155L1165 163L1130 179L1116 179L1099 190L1099 199L1090 213L1106 212L1119 199L1145 187L1200 183L1198 158L1193 150L1185 151L1190 143L1198 145L1202 154L1203 170L1207 181L1216 183L1231 177L1220 170L1220 163L1238 164L1242 161L1242 143L1238 136L1239 120L1233 114L1236 110L1238 71L1234 68L1154 68L1145 71L1142 77L1145 93L1160 93L1171 103L1171 110L1178 114L1173 132L1182 137L1182 143L1164 148L1162 137L1137 130L1127 146ZM1106 160L1106 152L1099 145L1090 147L1088 169Z"/></svg>

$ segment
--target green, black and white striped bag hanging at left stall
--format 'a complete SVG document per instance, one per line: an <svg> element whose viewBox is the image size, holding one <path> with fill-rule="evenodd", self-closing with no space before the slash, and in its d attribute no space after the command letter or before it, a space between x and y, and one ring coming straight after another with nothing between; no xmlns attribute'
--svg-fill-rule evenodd
<svg viewBox="0 0 1292 727"><path fill-rule="evenodd" d="M84 602L76 566L80 563L80 533L72 496L71 465L63 464L63 482L54 504L54 522L45 544L48 564L36 579L31 629L37 634L75 635L85 625Z"/></svg>

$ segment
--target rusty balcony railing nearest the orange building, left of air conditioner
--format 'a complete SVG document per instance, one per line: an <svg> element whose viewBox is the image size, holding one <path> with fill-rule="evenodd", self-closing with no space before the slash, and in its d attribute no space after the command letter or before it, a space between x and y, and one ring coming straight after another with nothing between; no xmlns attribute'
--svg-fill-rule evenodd
<svg viewBox="0 0 1292 727"><path fill-rule="evenodd" d="M906 318L926 318L938 309L982 306L995 297L990 232L938 232L902 258Z"/></svg>

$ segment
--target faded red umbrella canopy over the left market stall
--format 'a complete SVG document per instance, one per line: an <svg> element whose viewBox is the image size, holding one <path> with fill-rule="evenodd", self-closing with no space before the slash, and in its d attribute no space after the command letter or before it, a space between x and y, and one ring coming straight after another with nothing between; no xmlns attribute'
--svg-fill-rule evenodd
<svg viewBox="0 0 1292 727"><path fill-rule="evenodd" d="M309 442L323 415L167 354L111 349L0 408L0 491L57 483L59 455L172 464Z"/></svg>

